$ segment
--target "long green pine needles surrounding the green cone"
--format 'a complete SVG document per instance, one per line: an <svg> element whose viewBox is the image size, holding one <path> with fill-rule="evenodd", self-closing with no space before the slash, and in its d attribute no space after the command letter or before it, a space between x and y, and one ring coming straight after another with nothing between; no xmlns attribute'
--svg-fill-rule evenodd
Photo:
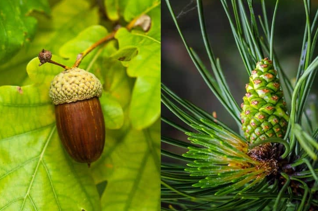
<svg viewBox="0 0 318 211"><path fill-rule="evenodd" d="M318 125L306 109L317 70L318 9L303 0L306 24L296 83L288 79L273 48L276 0L272 19L265 0L257 18L252 0L220 0L248 75L265 57L273 62L285 94L289 120L285 137L249 142L220 119L161 85L163 105L184 124L162 122L185 133L189 141L162 135L162 211L318 211ZM209 70L183 37L170 5L166 5L184 46L212 93L241 128L241 108L235 101L219 59L212 51L203 6L197 0L200 33L211 64ZM315 119L315 118L314 118ZM184 154L176 151L183 150ZM166 148L166 149L164 149Z"/></svg>

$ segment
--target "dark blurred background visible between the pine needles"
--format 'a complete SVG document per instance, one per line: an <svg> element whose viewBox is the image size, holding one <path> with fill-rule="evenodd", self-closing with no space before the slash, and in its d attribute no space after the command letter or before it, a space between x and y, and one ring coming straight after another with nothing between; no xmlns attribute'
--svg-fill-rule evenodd
<svg viewBox="0 0 318 211"><path fill-rule="evenodd" d="M259 0L253 1L256 16L262 15L259 2ZM265 2L267 16L271 20L276 0L266 0ZM315 14L318 1L312 2L312 13ZM196 0L170 0L170 3L189 46L201 57L206 67L210 68L201 38ZM213 52L216 57L220 58L231 92L240 105L245 94L244 87L245 83L248 82L248 74L239 55L228 18L219 0L203 0L203 8ZM296 76L301 56L305 21L305 8L302 0L281 0L279 2L274 32L274 49L283 70L286 71L288 77L292 80ZM183 99L189 100L210 114L215 111L218 119L233 130L239 131L230 114L214 97L193 65L171 19L165 1L162 2L161 6L161 23L162 83ZM317 82L314 84L317 84ZM313 87L313 93L317 93L317 87L317 85ZM163 117L184 126L163 105L161 106L161 112ZM178 132L165 123L161 124L161 135L182 141L187 139L183 133ZM161 144L161 148L166 147L167 145L164 143ZM169 150L173 151L171 148ZM179 151L179 153L182 152Z"/></svg>

